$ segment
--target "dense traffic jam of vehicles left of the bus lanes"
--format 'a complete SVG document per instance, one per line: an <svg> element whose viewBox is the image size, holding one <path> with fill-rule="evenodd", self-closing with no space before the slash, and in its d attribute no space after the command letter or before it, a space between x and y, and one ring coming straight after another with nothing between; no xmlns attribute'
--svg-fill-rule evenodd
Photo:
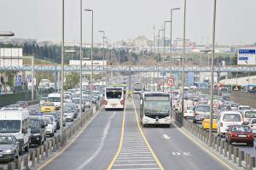
<svg viewBox="0 0 256 170"><path fill-rule="evenodd" d="M90 95L92 94L92 95ZM82 88L82 114L102 99L103 88ZM72 125L79 117L79 88L64 92L63 127ZM61 94L41 97L38 105L18 101L0 109L0 163L15 161L30 148L33 150L59 133L61 128Z"/></svg>

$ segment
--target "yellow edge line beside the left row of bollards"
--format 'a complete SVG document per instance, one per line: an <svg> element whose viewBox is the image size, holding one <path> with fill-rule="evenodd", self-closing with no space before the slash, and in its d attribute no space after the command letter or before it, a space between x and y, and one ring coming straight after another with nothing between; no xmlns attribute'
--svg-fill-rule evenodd
<svg viewBox="0 0 256 170"><path fill-rule="evenodd" d="M103 106L102 106L103 108ZM52 156L48 161L45 161L42 165L40 165L37 169L41 170L43 169L45 166L47 166L51 161L54 161L58 156L61 156L61 154L67 150L69 148L69 146L71 144L73 144L78 138L79 136L81 136L81 134L84 132L84 130L86 129L86 127L88 127L90 125L90 122L92 122L94 120L94 118L100 113L100 111L102 111L102 108L96 112L96 114L90 119L89 122L86 123L86 125L80 130L80 132L64 147L62 148L55 156Z"/></svg>

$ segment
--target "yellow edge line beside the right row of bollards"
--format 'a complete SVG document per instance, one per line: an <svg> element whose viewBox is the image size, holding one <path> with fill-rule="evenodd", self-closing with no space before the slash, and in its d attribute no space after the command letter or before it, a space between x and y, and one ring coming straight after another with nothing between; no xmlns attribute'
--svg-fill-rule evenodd
<svg viewBox="0 0 256 170"><path fill-rule="evenodd" d="M177 127L177 125L175 123L172 123L172 124L179 130L179 132L183 133L183 135L185 135L188 139L190 139L194 144L199 146L201 148L201 150L204 150L205 152L207 152L207 154L212 156L215 160L219 161L222 165L224 165L224 167L227 167L230 170L234 169L234 167L230 167L227 163L225 163L224 161L219 159L218 156L215 156L214 154L212 154L212 152L210 150L207 150L203 145L199 144L198 141L196 141L195 139L190 137L186 132L184 132L183 129L181 129L180 127Z"/></svg>

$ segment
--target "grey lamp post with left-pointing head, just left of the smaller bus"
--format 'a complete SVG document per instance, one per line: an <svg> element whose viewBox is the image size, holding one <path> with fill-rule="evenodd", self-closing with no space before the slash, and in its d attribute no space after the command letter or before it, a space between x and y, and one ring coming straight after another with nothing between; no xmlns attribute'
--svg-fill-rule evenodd
<svg viewBox="0 0 256 170"><path fill-rule="evenodd" d="M91 46L90 46L90 111L92 110L92 90L93 90L93 10L85 8L84 11L91 12Z"/></svg>

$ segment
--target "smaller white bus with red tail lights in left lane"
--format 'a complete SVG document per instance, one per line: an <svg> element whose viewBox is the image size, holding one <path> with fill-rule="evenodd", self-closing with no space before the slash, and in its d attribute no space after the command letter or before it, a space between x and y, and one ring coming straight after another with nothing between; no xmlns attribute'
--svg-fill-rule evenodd
<svg viewBox="0 0 256 170"><path fill-rule="evenodd" d="M125 90L123 87L108 87L105 88L104 94L105 110L125 108Z"/></svg>

